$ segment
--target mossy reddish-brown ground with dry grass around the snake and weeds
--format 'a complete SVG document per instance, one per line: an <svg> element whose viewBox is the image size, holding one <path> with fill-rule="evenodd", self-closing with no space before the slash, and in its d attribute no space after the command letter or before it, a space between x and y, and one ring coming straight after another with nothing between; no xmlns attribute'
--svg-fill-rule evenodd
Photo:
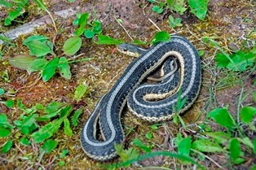
<svg viewBox="0 0 256 170"><path fill-rule="evenodd" d="M168 23L168 15L170 11L166 10L163 14L158 15L154 13L152 4L143 1L60 1L55 0L47 2L47 7L52 13L54 11L62 11L65 9L73 9L73 11L90 12L92 16L99 19L102 23L103 33L110 37L119 38L124 41L132 41L139 39L141 41L150 41L153 35L158 31L158 28L168 33L179 33L192 41L196 50L204 50L205 53L201 57L202 63L202 84L201 91L197 101L189 111L183 115L183 120L188 124L188 129L179 129L172 121L165 122L159 129L152 132L152 139L147 140L145 133L151 132L150 125L142 120L137 120L131 116L129 111L125 111L122 116L122 122L125 124L126 140L132 141L135 137L139 137L144 143L154 146L153 150L174 150L170 143L173 137L179 132L184 135L192 135L198 130L198 124L204 123L207 119L207 113L214 107L229 106L229 111L233 116L236 116L237 105L241 106L252 105L255 106L252 92L255 90L255 74L256 72L243 72L242 81L245 82L243 87L239 83L237 73L223 71L217 68L214 62L216 48L206 46L202 41L202 37L214 37L215 41L227 50L232 52L232 45L241 47L245 37L255 27L255 2L254 1L223 1L212 0L208 5L208 12L205 20L201 21L195 15L187 10L184 15L174 14L174 17L181 17L183 26L179 28L170 28ZM47 14L44 11L38 11L37 6L29 8L29 14L25 17L25 21L40 20L42 16ZM4 11L0 14L1 18L7 16ZM64 41L73 35L75 26L72 22L75 15L68 15L66 18L61 18L55 15L56 24L59 33L55 33L51 20L46 20L46 24L37 28L33 34L39 33L46 35L55 41L56 53L60 54L61 46ZM121 19L124 28L118 24L117 19ZM152 22L150 21L152 20ZM24 24L23 23L23 24ZM156 27L156 25L158 28ZM18 28L21 24L11 27L3 26L1 20L0 33L6 33L13 28ZM127 34L126 33L129 33ZM126 56L113 52L115 46L99 46L86 38L83 38L82 48L77 52L78 59L93 58L90 61L73 63L71 65L72 78L65 80L63 77L56 74L50 81L43 82L38 80L38 72L29 74L19 68L14 68L7 63L17 54L28 54L28 49L22 45L22 41L29 35L23 35L14 40L15 48L11 46L2 47L3 59L0 63L0 87L2 89L13 90L15 95L6 95L0 98L0 101L7 99L20 98L26 107L32 107L36 103L46 105L52 101L65 102L72 104L74 107L86 107L85 112L80 116L77 127L73 128L73 136L67 137L64 132L60 130L53 138L58 141L58 147L48 155L43 155L40 159L40 167L42 169L99 169L103 163L95 162L88 159L80 146L80 133L83 124L93 111L96 102L102 97L108 89L117 81L121 73L134 60L133 57ZM130 37L129 37L130 36ZM254 46L252 40L255 41L255 32L249 37L246 47ZM231 49L231 50L230 50ZM3 78L3 72L8 72L8 80ZM73 95L77 85L86 82L88 85L88 93L82 98L82 102L75 102ZM243 90L241 92L241 89ZM246 98L242 103L238 103L240 94L243 93ZM244 96L243 96L244 97ZM0 112L7 113L10 120L15 120L20 115L20 111L15 111L15 108L8 108L4 104L0 104ZM42 124L41 124L42 125ZM219 129L214 126L213 128ZM131 129L131 130L130 130ZM18 130L16 130L18 131ZM18 132L12 132L13 134ZM130 132L130 133L128 133ZM255 133L250 133L251 137L255 137ZM15 137L15 135L14 135ZM18 140L18 139L17 139ZM0 146L6 140L0 138ZM129 144L128 144L129 145ZM0 154L0 168L1 169L33 169L38 168L39 148L40 145L33 144L33 147L20 145L19 142L8 152L8 154ZM68 149L69 154L64 159L60 159L60 152L63 149ZM220 164L223 169L249 169L254 163L254 155L249 157L246 163L240 166L229 165L227 157L223 155L210 155L210 158ZM65 161L64 167L60 167L58 163L60 160ZM117 161L117 160L115 160ZM114 161L114 162L115 162ZM179 162L179 161L178 161ZM147 159L139 163L141 166L158 166L170 169L176 169L176 159L169 159L163 156L158 156L155 159ZM179 168L191 169L192 165L181 165ZM208 169L217 169L215 163L209 159L201 161ZM134 164L132 168L123 169L137 169L139 165Z"/></svg>

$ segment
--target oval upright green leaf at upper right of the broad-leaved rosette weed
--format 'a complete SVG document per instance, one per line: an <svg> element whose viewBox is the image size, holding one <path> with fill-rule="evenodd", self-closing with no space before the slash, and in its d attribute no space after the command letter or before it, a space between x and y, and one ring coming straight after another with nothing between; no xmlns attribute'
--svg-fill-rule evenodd
<svg viewBox="0 0 256 170"><path fill-rule="evenodd" d="M67 41L65 41L63 50L66 55L76 54L78 50L80 50L82 46L81 37L70 37Z"/></svg>

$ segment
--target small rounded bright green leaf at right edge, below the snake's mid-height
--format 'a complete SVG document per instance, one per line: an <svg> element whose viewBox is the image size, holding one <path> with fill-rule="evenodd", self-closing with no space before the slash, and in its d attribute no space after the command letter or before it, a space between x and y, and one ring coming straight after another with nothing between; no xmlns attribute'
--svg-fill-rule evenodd
<svg viewBox="0 0 256 170"><path fill-rule="evenodd" d="M241 121L244 124L248 124L252 122L254 119L254 116L256 116L256 108L255 107L243 107L241 109Z"/></svg>

